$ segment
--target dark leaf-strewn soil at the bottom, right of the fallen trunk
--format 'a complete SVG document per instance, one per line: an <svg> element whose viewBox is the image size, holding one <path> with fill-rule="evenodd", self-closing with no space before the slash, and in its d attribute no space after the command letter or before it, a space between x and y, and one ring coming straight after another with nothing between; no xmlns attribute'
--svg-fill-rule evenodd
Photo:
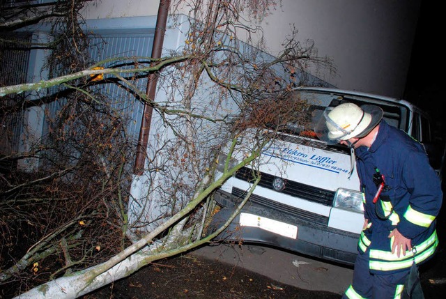
<svg viewBox="0 0 446 299"><path fill-rule="evenodd" d="M176 256L157 261L81 299L102 298L339 299L341 296L284 285L221 261Z"/></svg>

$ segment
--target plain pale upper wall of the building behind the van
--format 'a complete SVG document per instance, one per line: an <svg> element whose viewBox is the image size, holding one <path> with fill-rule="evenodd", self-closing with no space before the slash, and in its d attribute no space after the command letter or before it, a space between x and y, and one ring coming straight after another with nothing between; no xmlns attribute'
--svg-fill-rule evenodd
<svg viewBox="0 0 446 299"><path fill-rule="evenodd" d="M282 0L261 26L270 54L298 29L298 40L314 40L336 75L321 79L340 89L401 97L421 0ZM156 15L157 0L102 0L89 4L86 19ZM180 9L187 15L187 8Z"/></svg>

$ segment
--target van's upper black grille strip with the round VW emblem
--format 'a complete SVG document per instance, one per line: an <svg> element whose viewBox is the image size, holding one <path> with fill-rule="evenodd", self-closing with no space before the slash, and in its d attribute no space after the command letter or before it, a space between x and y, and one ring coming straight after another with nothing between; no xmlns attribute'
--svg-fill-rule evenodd
<svg viewBox="0 0 446 299"><path fill-rule="evenodd" d="M242 169L237 171L236 178L247 182L253 182L254 174L256 174L257 176L257 172L253 173L252 169L243 167ZM271 174L266 174L264 172L260 172L260 175L261 181L259 182L259 186L266 187L270 190L275 190L274 187L272 187L272 182L275 180L275 178L279 177L272 176ZM305 185L291 180L284 181L284 189L282 191L275 190L276 192L282 192L284 194L291 195L292 197L299 197L300 199L307 199L308 201L313 201L325 206L332 206L333 204L335 193L334 191L324 190L318 187Z"/></svg>

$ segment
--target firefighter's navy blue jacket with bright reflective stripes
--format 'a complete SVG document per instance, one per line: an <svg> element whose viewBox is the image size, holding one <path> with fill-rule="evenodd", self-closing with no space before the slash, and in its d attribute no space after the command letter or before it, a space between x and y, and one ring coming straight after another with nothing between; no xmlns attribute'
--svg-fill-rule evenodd
<svg viewBox="0 0 446 299"><path fill-rule="evenodd" d="M422 144L383 120L371 147L360 146L355 154L366 199L364 217L371 223L361 233L358 250L370 250L371 272L390 273L412 265L412 252L392 254L393 238L388 235L395 227L412 240L417 263L429 259L438 245L436 216L443 192ZM386 185L376 204L372 202L378 190L373 181L375 168Z"/></svg>

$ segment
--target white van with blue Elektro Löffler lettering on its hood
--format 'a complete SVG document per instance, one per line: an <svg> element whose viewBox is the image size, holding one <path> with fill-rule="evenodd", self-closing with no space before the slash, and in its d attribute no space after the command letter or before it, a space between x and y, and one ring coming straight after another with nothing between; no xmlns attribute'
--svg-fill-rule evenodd
<svg viewBox="0 0 446 299"><path fill-rule="evenodd" d="M293 92L309 102L314 123L323 117L325 107L342 102L381 107L387 123L424 144L433 168L442 175L444 147L433 145L429 116L410 102L339 89L298 88ZM217 240L263 243L351 265L364 222L364 195L351 150L300 133L299 126L289 123L288 130L279 131L272 145L263 148L258 163L261 181ZM249 142L247 135L233 158L242 158L243 144ZM220 160L226 157L224 153ZM233 213L252 178L251 167L244 167L217 190L214 199L220 211L213 217L215 226Z"/></svg>

